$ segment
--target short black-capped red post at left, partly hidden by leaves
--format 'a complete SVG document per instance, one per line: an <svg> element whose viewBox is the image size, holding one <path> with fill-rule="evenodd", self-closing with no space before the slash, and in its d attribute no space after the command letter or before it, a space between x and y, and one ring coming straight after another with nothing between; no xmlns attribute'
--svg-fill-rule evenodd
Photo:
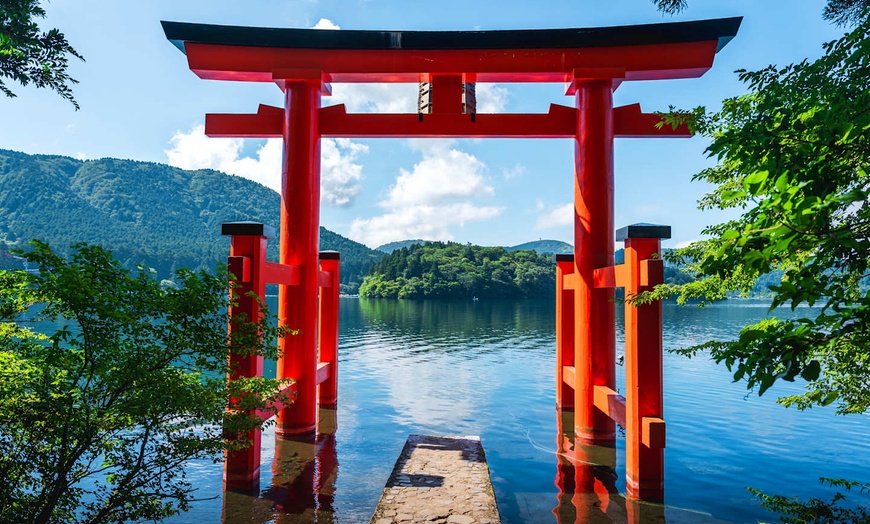
<svg viewBox="0 0 870 524"><path fill-rule="evenodd" d="M230 335L240 328L239 323L257 321L260 306L256 299L248 296L254 292L263 297L266 294L266 281L263 268L266 263L266 240L275 236L275 230L253 222L234 222L222 225L224 235L232 235L230 257L227 267L234 278L236 288L235 305L230 306ZM262 355L230 354L229 380L262 377ZM246 435L250 446L245 449L228 451L224 462L224 489L257 490L260 484L260 439L259 430Z"/></svg>

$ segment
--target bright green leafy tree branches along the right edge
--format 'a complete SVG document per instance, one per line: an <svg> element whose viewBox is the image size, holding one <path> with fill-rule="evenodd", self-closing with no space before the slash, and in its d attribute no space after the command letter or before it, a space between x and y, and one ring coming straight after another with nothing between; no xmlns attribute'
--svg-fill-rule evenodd
<svg viewBox="0 0 870 524"><path fill-rule="evenodd" d="M656 2L679 10L683 1ZM715 189L701 209L735 209L739 218L707 228L709 239L675 251L698 277L659 286L638 301L677 295L714 300L749 293L763 275L771 311L819 306L798 320L770 318L737 340L710 341L681 352L709 354L761 395L777 380L806 381L803 394L780 398L806 409L836 404L838 413L870 409L870 2L829 0L825 18L854 29L824 46L818 60L738 71L749 93L720 111L672 113L711 139L716 167L695 176ZM822 479L834 487L865 483ZM788 523L867 522L866 508L833 500L800 501L750 490Z"/></svg>

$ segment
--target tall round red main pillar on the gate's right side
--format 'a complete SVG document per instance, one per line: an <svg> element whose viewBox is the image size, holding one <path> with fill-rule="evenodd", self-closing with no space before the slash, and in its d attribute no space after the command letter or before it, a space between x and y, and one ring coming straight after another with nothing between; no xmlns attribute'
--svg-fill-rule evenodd
<svg viewBox="0 0 870 524"><path fill-rule="evenodd" d="M595 269L613 265L611 80L577 83L574 148L574 424L580 444L613 445L615 424L593 405L593 387L616 388L613 289L595 289Z"/></svg>

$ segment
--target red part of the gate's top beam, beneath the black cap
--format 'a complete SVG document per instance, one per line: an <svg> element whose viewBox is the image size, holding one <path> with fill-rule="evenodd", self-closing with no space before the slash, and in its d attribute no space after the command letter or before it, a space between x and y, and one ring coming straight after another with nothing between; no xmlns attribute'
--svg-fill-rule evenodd
<svg viewBox="0 0 870 524"><path fill-rule="evenodd" d="M574 70L614 69L625 80L697 78L713 65L718 40L565 49L287 49L187 42L188 65L208 80L275 82L286 70L322 71L326 82L571 82ZM585 81L585 80L584 80Z"/></svg>

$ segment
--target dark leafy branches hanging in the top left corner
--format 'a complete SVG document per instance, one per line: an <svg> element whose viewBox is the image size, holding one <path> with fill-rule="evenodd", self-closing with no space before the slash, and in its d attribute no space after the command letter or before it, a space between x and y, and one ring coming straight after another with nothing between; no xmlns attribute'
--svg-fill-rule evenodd
<svg viewBox="0 0 870 524"><path fill-rule="evenodd" d="M39 0L0 2L0 91L8 97L15 93L3 78L21 85L46 87L69 100L76 109L72 84L78 81L67 73L69 57L84 61L57 29L43 32L36 18L45 18Z"/></svg>

